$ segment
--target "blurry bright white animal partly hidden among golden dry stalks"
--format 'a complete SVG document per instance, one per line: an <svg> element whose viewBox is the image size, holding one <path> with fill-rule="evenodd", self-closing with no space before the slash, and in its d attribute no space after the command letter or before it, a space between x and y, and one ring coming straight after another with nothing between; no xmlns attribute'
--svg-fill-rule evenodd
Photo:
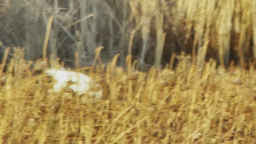
<svg viewBox="0 0 256 144"><path fill-rule="evenodd" d="M85 94L90 91L90 86L95 84L94 80L89 76L78 72L70 72L64 68L48 69L46 73L50 74L54 80L56 80L53 86L54 92L61 92L63 88L68 86L68 88L72 89L74 92L78 92L78 94ZM70 81L73 82L73 84L68 85ZM95 86L99 87L98 84L95 84Z"/></svg>

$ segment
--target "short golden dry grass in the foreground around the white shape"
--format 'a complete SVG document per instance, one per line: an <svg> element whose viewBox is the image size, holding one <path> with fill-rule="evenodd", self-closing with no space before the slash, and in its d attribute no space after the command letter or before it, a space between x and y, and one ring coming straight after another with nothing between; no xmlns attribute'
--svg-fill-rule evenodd
<svg viewBox="0 0 256 144"><path fill-rule="evenodd" d="M48 92L45 74L13 76L13 59L0 88L0 143L256 142L253 66L227 72L210 61L198 75L191 57L180 56L176 71L153 67L146 74L129 56L127 71L116 67L117 57L106 72L90 71L102 99Z"/></svg>

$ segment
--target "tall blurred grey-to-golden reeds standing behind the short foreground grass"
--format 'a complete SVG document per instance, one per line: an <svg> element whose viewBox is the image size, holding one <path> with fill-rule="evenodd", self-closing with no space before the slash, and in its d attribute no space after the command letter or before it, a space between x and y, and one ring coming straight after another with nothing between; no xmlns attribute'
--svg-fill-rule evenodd
<svg viewBox="0 0 256 144"><path fill-rule="evenodd" d="M26 60L42 58L49 17L54 15L48 58L54 55L75 66L92 64L94 50L110 62L129 54L141 70L165 66L172 54L214 58L221 66L246 67L256 57L255 0L2 0L1 55L6 47L25 47ZM132 40L131 40L132 39Z"/></svg>

